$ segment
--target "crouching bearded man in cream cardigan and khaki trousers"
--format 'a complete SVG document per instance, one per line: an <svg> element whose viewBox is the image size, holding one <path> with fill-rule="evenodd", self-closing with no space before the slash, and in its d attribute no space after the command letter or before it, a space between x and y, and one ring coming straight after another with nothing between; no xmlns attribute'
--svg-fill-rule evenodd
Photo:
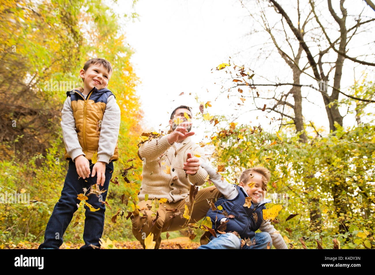
<svg viewBox="0 0 375 275"><path fill-rule="evenodd" d="M172 111L169 120L169 134L139 146L138 156L144 162L138 195L142 216L133 215L131 219L133 235L143 247L144 239L153 233L155 248L159 248L162 232L181 230L188 222L202 219L210 208L207 200L214 202L221 196L211 186L199 190L194 202L189 201L190 186L204 184L208 174L199 166L199 158L194 156L194 151L199 152L200 147L190 138L194 135L194 132L189 131L192 122L187 121L185 114L189 116L189 120L192 118L189 107L178 106ZM179 123L180 121L183 122ZM160 203L155 216L152 208L149 209L151 199L162 198L167 201ZM189 209L189 221L183 217L185 205Z"/></svg>

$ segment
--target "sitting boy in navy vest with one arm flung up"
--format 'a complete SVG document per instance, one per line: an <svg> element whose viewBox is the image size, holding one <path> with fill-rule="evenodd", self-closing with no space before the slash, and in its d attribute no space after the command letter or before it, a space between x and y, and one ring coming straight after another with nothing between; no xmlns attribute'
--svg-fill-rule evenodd
<svg viewBox="0 0 375 275"><path fill-rule="evenodd" d="M210 234L207 244L207 235L203 235L203 245L199 249L240 249L240 238L247 240L242 249L262 249L272 245L277 249L287 249L282 236L273 234L275 227L269 221L263 220L265 204L271 202L264 198L267 183L270 181L270 171L267 168L257 166L246 169L241 174L240 184L236 186L222 180L221 175L207 164L201 164L201 167L208 172L210 180L223 197L214 203L216 210L210 208L206 215L210 217L217 237ZM244 206L245 203L249 207ZM261 232L255 233L258 229ZM237 232L240 238L229 232Z"/></svg>

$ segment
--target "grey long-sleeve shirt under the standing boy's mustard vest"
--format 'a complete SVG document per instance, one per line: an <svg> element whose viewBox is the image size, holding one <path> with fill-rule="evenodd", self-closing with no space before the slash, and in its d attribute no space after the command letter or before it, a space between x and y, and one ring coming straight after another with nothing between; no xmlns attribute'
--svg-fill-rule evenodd
<svg viewBox="0 0 375 275"><path fill-rule="evenodd" d="M85 99L87 95L84 95ZM61 111L61 128L66 152L74 161L80 155L84 155L75 126L71 98L67 97ZM98 161L109 163L113 156L118 132L120 131L121 112L114 96L108 97L107 105L103 115L102 127L99 137Z"/></svg>

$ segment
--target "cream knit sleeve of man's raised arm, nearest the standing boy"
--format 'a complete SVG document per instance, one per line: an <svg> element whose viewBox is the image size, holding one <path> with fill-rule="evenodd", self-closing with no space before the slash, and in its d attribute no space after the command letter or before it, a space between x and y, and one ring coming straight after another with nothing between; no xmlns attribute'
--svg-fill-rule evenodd
<svg viewBox="0 0 375 275"><path fill-rule="evenodd" d="M142 161L154 161L172 145L168 143L168 135L146 141L139 146L138 156Z"/></svg>

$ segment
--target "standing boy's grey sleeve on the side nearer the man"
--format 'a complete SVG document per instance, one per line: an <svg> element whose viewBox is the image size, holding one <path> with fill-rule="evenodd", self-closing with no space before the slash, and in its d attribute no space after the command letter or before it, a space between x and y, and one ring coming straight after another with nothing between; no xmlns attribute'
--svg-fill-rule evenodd
<svg viewBox="0 0 375 275"><path fill-rule="evenodd" d="M120 131L121 111L114 96L110 95L103 114L99 136L98 161L110 162L116 148Z"/></svg>

